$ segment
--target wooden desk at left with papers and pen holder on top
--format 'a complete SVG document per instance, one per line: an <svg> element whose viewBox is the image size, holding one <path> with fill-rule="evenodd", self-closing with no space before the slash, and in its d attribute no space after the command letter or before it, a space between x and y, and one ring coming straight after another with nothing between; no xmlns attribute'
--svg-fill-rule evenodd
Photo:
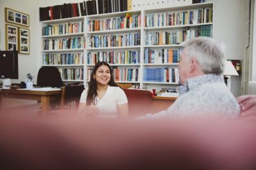
<svg viewBox="0 0 256 170"><path fill-rule="evenodd" d="M62 90L54 91L33 91L33 90L12 90L12 89L2 89L0 90L0 109L3 109L2 99L12 98L12 99L27 99L41 101L41 117L44 117L49 111L50 100L60 97Z"/></svg>

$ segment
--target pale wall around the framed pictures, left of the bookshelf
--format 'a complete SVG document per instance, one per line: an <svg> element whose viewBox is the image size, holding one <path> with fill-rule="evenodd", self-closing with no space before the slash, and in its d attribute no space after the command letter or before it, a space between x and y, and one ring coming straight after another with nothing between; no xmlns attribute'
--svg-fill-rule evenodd
<svg viewBox="0 0 256 170"><path fill-rule="evenodd" d="M29 5L28 5L29 4ZM0 49L5 50L5 18L4 18L4 8L8 7L13 10L21 11L23 13L29 14L29 31L30 31L30 54L23 55L19 54L19 80L12 80L12 83L20 83L20 81L26 80L26 74L31 73L36 76L36 41L38 41L38 36L36 36L36 20L38 20L36 13L38 13L38 4L34 0L1 0L0 1ZM1 80L0 80L1 81ZM34 83L36 81L34 80Z"/></svg>

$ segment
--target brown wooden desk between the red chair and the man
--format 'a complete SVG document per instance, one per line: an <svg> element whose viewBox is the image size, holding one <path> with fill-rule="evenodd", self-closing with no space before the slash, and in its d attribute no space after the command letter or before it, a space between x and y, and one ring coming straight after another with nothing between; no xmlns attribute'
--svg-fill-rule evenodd
<svg viewBox="0 0 256 170"><path fill-rule="evenodd" d="M152 97L152 113L156 113L162 110L166 110L169 106L171 106L177 97L160 97L153 96Z"/></svg>

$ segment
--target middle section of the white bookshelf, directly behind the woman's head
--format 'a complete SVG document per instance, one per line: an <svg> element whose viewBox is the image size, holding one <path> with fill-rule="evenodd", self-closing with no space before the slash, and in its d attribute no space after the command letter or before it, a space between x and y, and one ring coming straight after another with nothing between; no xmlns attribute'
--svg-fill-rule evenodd
<svg viewBox="0 0 256 170"><path fill-rule="evenodd" d="M86 81L97 61L113 68L116 83L140 83L141 11L86 16Z"/></svg>

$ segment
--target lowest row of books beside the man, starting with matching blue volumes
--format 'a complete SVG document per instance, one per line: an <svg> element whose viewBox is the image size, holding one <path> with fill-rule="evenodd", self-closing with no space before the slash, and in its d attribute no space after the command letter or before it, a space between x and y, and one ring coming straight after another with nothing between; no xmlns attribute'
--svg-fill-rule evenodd
<svg viewBox="0 0 256 170"><path fill-rule="evenodd" d="M179 83L178 68L144 68L143 81Z"/></svg>

